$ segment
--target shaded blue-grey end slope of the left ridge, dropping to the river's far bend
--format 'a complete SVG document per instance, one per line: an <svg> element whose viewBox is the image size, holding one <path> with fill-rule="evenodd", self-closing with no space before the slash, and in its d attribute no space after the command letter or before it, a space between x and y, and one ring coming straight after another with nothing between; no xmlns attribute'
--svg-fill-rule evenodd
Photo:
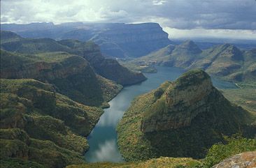
<svg viewBox="0 0 256 168"><path fill-rule="evenodd" d="M141 72L131 71L121 66L115 59L106 59L101 55L99 46L91 41L81 43L78 40L61 40L59 43L71 47L74 53L89 61L99 75L118 82L118 84L136 84L146 79Z"/></svg>

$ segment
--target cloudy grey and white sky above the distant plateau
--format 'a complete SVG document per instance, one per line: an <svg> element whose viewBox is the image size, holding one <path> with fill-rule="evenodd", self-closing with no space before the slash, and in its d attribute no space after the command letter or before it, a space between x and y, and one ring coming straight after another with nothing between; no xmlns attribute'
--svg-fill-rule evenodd
<svg viewBox="0 0 256 168"><path fill-rule="evenodd" d="M1 24L157 22L171 38L256 40L256 0L1 0Z"/></svg>

